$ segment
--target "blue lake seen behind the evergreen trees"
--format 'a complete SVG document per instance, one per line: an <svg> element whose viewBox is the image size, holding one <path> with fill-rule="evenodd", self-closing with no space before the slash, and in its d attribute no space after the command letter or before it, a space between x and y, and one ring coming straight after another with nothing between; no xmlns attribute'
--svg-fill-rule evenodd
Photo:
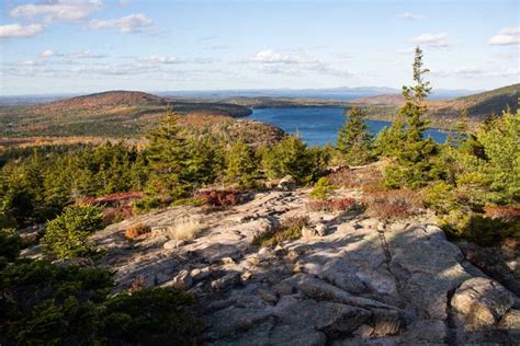
<svg viewBox="0 0 520 346"><path fill-rule="evenodd" d="M253 109L248 118L272 124L289 134L299 134L309 146L335 145L338 130L346 120L342 108L263 108ZM374 135L391 125L380 120L366 120L366 124ZM430 128L426 136L444 142L448 134Z"/></svg>

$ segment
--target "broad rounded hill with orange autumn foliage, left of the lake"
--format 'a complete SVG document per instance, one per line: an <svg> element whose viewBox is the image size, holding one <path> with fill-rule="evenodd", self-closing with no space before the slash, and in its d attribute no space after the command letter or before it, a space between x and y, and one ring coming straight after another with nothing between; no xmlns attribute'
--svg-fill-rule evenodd
<svg viewBox="0 0 520 346"><path fill-rule="evenodd" d="M37 105L0 107L0 136L128 137L154 127L168 111L242 117L248 107L188 101L136 91L109 91Z"/></svg>

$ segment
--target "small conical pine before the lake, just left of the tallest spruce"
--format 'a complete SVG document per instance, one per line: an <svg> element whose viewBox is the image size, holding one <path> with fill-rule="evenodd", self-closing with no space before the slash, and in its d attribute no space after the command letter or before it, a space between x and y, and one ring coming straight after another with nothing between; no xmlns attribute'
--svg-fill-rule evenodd
<svg viewBox="0 0 520 346"><path fill-rule="evenodd" d="M372 136L364 120L364 114L360 107L354 106L344 126L339 130L337 149L347 163L360 165L371 159L371 142Z"/></svg>

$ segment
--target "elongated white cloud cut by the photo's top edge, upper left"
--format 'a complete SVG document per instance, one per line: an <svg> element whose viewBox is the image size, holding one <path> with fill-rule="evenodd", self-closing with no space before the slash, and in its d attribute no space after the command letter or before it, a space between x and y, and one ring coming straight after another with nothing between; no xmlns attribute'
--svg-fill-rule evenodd
<svg viewBox="0 0 520 346"><path fill-rule="evenodd" d="M27 3L15 7L9 14L13 18L44 16L47 22L55 20L80 21L100 10L101 0L49 0L45 3Z"/></svg>

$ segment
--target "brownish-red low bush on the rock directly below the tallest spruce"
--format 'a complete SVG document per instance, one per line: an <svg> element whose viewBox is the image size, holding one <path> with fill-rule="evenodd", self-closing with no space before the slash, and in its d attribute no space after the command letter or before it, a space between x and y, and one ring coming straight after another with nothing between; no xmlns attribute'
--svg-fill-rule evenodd
<svg viewBox="0 0 520 346"><path fill-rule="evenodd" d="M422 211L420 195L406 188L368 194L363 201L368 215L383 220L407 218Z"/></svg>

